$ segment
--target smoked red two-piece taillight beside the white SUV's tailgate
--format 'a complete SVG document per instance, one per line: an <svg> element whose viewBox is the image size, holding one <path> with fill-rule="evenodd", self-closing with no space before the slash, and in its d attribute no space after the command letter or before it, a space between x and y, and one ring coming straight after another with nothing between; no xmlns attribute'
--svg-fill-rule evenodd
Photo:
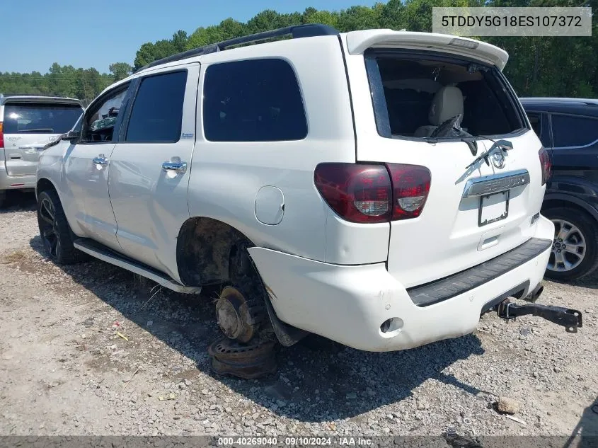
<svg viewBox="0 0 598 448"><path fill-rule="evenodd" d="M430 191L423 166L320 163L316 188L328 205L350 222L389 222L420 215Z"/></svg>

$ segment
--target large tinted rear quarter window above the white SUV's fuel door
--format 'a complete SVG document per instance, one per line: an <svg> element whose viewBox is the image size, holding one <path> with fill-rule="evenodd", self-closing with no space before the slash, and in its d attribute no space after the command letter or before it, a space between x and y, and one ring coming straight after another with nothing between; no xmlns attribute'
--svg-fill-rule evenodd
<svg viewBox="0 0 598 448"><path fill-rule="evenodd" d="M274 142L307 135L297 78L282 59L209 66L203 120L206 138L215 142Z"/></svg>

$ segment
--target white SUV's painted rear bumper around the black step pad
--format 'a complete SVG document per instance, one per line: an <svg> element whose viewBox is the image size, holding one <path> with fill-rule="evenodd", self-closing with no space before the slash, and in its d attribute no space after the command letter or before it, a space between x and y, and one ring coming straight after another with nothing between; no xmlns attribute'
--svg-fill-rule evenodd
<svg viewBox="0 0 598 448"><path fill-rule="evenodd" d="M553 232L553 224L541 217L534 238L551 240ZM550 250L427 306L414 304L384 263L330 265L265 248L249 252L282 321L352 348L381 352L471 333L488 304L518 288L528 294L541 282ZM383 333L381 324L390 318L394 318L391 328Z"/></svg>

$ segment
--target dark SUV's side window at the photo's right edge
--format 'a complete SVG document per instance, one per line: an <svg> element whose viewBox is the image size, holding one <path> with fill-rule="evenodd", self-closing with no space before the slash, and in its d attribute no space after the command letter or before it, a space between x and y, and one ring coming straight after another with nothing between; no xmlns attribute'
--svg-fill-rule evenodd
<svg viewBox="0 0 598 448"><path fill-rule="evenodd" d="M552 115L555 148L583 147L598 140L598 120L573 115Z"/></svg>

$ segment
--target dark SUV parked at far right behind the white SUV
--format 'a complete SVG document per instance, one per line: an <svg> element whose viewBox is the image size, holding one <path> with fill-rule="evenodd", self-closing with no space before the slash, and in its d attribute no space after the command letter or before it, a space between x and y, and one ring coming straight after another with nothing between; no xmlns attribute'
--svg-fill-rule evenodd
<svg viewBox="0 0 598 448"><path fill-rule="evenodd" d="M598 265L598 100L519 99L553 163L542 205L555 224L546 277L580 278Z"/></svg>

